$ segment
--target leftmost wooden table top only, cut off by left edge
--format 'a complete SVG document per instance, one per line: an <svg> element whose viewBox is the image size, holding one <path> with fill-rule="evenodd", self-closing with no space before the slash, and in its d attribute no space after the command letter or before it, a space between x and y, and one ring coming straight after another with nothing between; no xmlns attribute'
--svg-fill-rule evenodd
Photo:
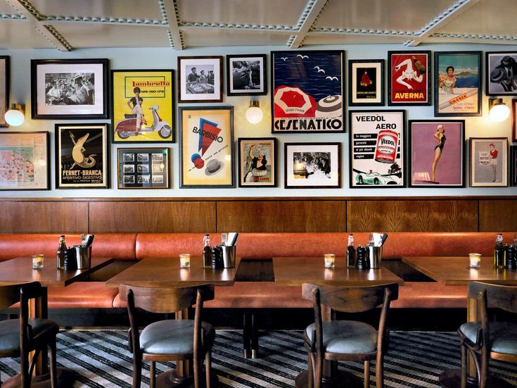
<svg viewBox="0 0 517 388"><path fill-rule="evenodd" d="M73 282L88 280L89 275L113 263L113 258L92 258L91 267L84 270L56 268L56 257L45 257L43 268L32 269L32 258L17 257L0 262L0 284L40 282L44 287L65 287Z"/></svg>

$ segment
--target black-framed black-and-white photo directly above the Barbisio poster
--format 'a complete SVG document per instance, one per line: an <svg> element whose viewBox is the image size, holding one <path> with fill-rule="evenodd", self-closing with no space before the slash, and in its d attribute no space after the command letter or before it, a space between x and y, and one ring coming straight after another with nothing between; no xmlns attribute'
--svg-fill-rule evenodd
<svg viewBox="0 0 517 388"><path fill-rule="evenodd" d="M222 56L178 57L178 101L222 102Z"/></svg>

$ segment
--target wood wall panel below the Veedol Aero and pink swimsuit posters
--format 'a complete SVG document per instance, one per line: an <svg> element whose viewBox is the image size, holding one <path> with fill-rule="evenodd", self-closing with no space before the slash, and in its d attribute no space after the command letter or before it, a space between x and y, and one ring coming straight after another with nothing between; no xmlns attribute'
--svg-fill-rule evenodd
<svg viewBox="0 0 517 388"><path fill-rule="evenodd" d="M347 201L351 232L475 232L478 201Z"/></svg>

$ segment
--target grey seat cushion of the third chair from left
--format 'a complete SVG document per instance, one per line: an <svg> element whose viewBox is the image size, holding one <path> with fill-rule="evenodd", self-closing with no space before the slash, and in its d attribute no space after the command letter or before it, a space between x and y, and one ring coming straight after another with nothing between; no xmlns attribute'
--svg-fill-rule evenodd
<svg viewBox="0 0 517 388"><path fill-rule="evenodd" d="M373 353L377 350L377 330L355 320L329 320L321 326L323 349L329 353ZM312 342L314 323L305 329L305 338Z"/></svg>

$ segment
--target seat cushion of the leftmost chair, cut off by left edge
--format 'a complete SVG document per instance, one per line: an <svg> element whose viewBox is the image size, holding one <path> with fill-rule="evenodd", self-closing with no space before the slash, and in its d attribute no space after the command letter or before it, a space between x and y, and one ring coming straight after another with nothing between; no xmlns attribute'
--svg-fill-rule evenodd
<svg viewBox="0 0 517 388"><path fill-rule="evenodd" d="M32 341L40 337L49 337L50 333L58 334L57 323L48 319L31 318L28 320L32 327ZM0 322L0 351L20 351L20 320L9 319Z"/></svg>

